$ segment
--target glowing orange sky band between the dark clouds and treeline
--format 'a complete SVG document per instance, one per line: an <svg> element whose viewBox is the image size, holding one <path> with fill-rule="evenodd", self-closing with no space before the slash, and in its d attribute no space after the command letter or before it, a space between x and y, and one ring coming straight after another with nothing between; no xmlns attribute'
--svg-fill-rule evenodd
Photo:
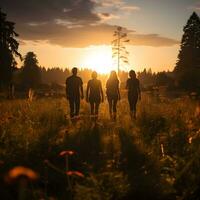
<svg viewBox="0 0 200 200"><path fill-rule="evenodd" d="M151 68L153 71L173 70L179 46L173 47L146 47L129 46L129 66L122 69L135 69L141 71ZM24 55L28 51L34 51L39 64L45 67L87 67L98 72L107 73L116 69L112 61L111 48L108 45L89 46L85 48L63 48L48 43L32 43L23 45L20 52ZM103 63L102 63L103 60ZM103 66L101 66L101 63Z"/></svg>

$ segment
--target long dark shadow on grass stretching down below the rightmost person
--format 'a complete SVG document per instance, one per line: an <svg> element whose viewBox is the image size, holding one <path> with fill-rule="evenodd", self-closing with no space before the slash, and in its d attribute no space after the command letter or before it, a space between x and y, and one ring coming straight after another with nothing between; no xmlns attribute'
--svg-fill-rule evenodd
<svg viewBox="0 0 200 200"><path fill-rule="evenodd" d="M163 194L163 183L156 160L142 152L124 129L119 130L119 138L121 142L120 168L128 175L131 185L125 199L170 199L168 194Z"/></svg>

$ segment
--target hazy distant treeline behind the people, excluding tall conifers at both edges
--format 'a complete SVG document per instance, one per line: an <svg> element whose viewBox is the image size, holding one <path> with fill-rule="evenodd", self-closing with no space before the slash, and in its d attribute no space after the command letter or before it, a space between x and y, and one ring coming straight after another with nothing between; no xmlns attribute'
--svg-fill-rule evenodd
<svg viewBox="0 0 200 200"><path fill-rule="evenodd" d="M87 83L91 78L91 73L91 69L85 68L79 69L78 72L84 83ZM39 66L36 54L34 52L28 52L24 57L23 65L15 69L13 84L19 85L21 88L37 88L42 84L58 84L64 86L66 78L70 75L71 70L69 68L45 68ZM109 75L99 74L98 76L105 83ZM120 72L119 78L121 83L124 84L128 78L128 72ZM152 73L151 69L144 69L142 72L138 72L138 78L144 88L151 86L169 86L173 85L174 82L172 72Z"/></svg>

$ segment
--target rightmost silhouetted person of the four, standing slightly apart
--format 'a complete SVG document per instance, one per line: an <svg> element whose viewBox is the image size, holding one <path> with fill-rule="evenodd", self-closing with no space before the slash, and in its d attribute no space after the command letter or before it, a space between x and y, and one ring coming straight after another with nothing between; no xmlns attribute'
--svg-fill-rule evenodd
<svg viewBox="0 0 200 200"><path fill-rule="evenodd" d="M131 118L136 119L136 105L138 98L141 99L140 82L136 78L134 70L129 71L129 77L126 82L126 89L128 90L128 102L130 106Z"/></svg>

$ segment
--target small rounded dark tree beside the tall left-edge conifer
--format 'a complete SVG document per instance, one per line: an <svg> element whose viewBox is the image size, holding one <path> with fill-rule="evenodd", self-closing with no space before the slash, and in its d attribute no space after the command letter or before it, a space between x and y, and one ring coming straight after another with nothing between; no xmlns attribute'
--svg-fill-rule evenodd
<svg viewBox="0 0 200 200"><path fill-rule="evenodd" d="M26 89L36 88L41 83L41 72L34 52L28 52L24 58L21 82Z"/></svg>

